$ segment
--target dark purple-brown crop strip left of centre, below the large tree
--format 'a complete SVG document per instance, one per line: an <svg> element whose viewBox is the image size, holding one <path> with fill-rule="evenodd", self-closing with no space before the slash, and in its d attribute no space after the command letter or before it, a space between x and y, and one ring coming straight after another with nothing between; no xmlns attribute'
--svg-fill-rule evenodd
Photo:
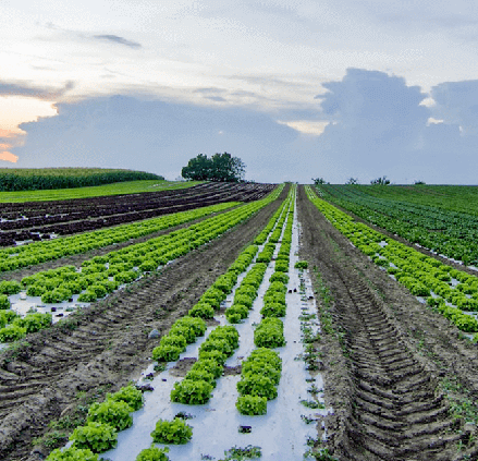
<svg viewBox="0 0 478 461"><path fill-rule="evenodd" d="M272 184L200 184L182 191L95 197L47 204L0 205L0 245L40 241L156 218L225 202L263 198ZM12 211L8 211L13 208Z"/></svg>

